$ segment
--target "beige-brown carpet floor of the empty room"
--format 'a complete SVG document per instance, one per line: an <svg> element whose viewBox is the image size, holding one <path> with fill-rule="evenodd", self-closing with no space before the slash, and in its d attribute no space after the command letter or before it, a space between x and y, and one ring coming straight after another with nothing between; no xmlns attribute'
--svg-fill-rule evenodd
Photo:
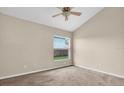
<svg viewBox="0 0 124 93"><path fill-rule="evenodd" d="M86 70L79 67L65 67L55 70L23 75L0 80L5 86L107 86L124 85L124 79Z"/></svg>

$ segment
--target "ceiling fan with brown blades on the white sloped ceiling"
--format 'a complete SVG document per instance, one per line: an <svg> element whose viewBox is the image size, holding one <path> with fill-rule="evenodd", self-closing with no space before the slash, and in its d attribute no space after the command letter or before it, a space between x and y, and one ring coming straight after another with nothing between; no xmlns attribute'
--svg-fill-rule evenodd
<svg viewBox="0 0 124 93"><path fill-rule="evenodd" d="M68 20L68 17L70 15L75 15L75 16L80 16L81 15L81 12L73 12L71 11L73 9L73 7L58 7L58 9L60 9L62 12L61 13L58 13L56 15L53 15L52 17L57 17L59 15L63 15L65 17L65 21Z"/></svg>

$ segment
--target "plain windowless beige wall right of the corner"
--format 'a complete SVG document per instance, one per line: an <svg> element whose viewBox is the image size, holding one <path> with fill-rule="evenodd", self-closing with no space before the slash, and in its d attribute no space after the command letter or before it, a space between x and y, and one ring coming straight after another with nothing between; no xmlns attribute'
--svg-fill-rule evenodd
<svg viewBox="0 0 124 93"><path fill-rule="evenodd" d="M73 39L75 65L124 76L124 8L105 8Z"/></svg>

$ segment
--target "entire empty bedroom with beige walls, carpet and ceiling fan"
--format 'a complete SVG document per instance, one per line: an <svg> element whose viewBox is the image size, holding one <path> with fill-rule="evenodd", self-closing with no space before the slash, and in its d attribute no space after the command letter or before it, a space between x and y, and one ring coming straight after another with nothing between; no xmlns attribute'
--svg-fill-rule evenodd
<svg viewBox="0 0 124 93"><path fill-rule="evenodd" d="M0 86L123 85L123 7L0 7Z"/></svg>

